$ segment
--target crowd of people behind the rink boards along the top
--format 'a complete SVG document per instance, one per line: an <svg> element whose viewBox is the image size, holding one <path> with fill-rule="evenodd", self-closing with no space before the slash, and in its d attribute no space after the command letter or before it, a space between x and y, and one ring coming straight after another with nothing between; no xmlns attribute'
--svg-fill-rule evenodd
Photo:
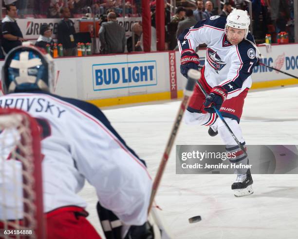
<svg viewBox="0 0 298 239"><path fill-rule="evenodd" d="M294 0L251 0L253 12L253 35L257 43L263 43L266 34L272 35L272 43L277 40L279 32L288 32L289 42L294 42ZM193 26L197 21L219 14L215 7L215 0L177 0L174 11L169 0L164 1L166 25L166 50L177 49L177 37L186 28ZM75 55L75 28L70 20L75 14L85 14L90 8L103 20L99 32L101 54L123 53L127 51L142 51L142 23L136 22L132 26L132 36L126 40L125 30L116 18L123 16L122 0L3 0L3 4L14 4L6 8L2 14L2 48L7 51L15 45L20 45L23 36L19 30L16 18L30 13L45 14L49 18L61 18L58 24L57 43L62 43L66 56ZM149 0L151 9L152 34L155 34L156 0ZM5 5L4 5L5 6ZM141 0L126 0L126 14L141 12ZM249 4L244 0L225 0L221 6L220 16L227 17L233 8L248 10ZM103 18L102 16L105 16ZM107 17L108 16L108 17ZM132 16L132 15L131 15ZM141 16L141 15L136 15ZM117 31L115 31L117 29ZM52 32L48 26L40 30L39 40L52 42ZM116 32L116 33L115 33ZM44 35L45 33L45 35ZM116 35L116 36L115 36ZM38 40L37 40L38 41ZM115 41L115 42L113 42ZM113 42L113 44L111 44ZM154 42L153 42L154 44ZM117 47L115 47L117 45ZM119 46L119 47L118 47ZM0 52L0 57L3 54Z"/></svg>

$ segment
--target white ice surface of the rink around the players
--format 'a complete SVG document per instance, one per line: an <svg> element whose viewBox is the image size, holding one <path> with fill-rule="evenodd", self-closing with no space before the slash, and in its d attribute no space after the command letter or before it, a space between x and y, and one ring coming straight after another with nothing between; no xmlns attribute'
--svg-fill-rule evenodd
<svg viewBox="0 0 298 239"><path fill-rule="evenodd" d="M180 100L105 109L113 127L145 159L154 178ZM298 87L251 91L241 127L246 144L298 145ZM205 126L182 124L176 144L223 144ZM297 239L298 175L253 175L254 194L235 198L235 175L176 175L175 148L156 201L177 239ZM99 231L96 195L86 185L88 219ZM189 224L200 215L202 221ZM102 233L101 233L102 235Z"/></svg>

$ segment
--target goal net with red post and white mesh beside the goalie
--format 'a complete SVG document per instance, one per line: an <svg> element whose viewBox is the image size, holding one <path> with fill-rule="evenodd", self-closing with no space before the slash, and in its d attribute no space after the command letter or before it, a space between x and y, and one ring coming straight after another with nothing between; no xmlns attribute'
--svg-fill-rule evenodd
<svg viewBox="0 0 298 239"><path fill-rule="evenodd" d="M45 238L41 160L37 121L0 109L0 238Z"/></svg>

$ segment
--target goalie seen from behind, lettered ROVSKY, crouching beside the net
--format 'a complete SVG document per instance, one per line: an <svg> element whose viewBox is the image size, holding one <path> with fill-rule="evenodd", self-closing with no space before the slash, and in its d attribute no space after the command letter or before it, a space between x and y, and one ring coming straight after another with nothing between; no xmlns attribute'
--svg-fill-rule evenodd
<svg viewBox="0 0 298 239"><path fill-rule="evenodd" d="M53 77L54 64L48 54L19 46L6 56L2 68L5 95L0 97L0 107L27 111L43 129L47 238L100 239L85 219L86 201L77 195L85 179L96 189L107 238L153 238L147 215L152 180L145 162L93 104L51 94ZM5 205L1 195L0 201ZM10 219L16 219L13 212Z"/></svg>

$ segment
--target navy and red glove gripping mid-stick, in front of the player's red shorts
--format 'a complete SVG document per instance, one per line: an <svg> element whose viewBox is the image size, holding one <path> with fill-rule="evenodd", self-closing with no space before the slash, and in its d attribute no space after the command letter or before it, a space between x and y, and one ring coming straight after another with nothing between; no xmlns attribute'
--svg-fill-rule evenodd
<svg viewBox="0 0 298 239"><path fill-rule="evenodd" d="M212 88L209 95L206 96L204 102L204 109L209 113L215 113L215 110L212 108L212 105L216 109L220 110L224 100L226 100L227 91L222 86L215 86Z"/></svg>

